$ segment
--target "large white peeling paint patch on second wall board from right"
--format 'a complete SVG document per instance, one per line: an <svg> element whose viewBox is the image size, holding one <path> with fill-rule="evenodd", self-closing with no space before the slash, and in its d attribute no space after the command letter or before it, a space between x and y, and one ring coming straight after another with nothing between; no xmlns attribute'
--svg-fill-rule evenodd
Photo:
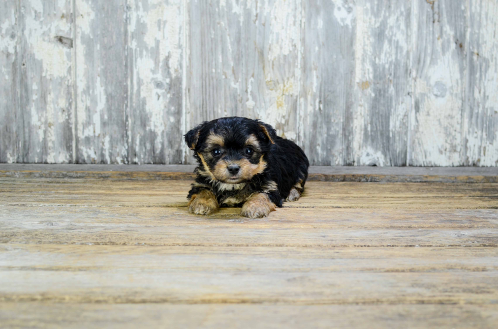
<svg viewBox="0 0 498 329"><path fill-rule="evenodd" d="M422 7L420 13L432 15L425 11L428 4L419 6ZM463 47L459 47L456 40L463 43L465 36L457 34L461 25L452 24L450 18L463 17L464 11L449 12L444 2L436 8L439 19L422 26L428 38L428 48L416 53L417 62L425 65L417 69L421 74L415 81L411 164L457 166L462 163L461 120L465 83ZM420 20L424 22L423 17Z"/></svg>

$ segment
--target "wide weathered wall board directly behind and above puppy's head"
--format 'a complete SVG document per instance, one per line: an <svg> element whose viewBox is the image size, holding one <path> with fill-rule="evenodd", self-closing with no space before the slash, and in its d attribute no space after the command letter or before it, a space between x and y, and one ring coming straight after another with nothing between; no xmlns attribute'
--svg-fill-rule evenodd
<svg viewBox="0 0 498 329"><path fill-rule="evenodd" d="M295 140L300 1L193 1L188 12L186 129L237 115Z"/></svg>

